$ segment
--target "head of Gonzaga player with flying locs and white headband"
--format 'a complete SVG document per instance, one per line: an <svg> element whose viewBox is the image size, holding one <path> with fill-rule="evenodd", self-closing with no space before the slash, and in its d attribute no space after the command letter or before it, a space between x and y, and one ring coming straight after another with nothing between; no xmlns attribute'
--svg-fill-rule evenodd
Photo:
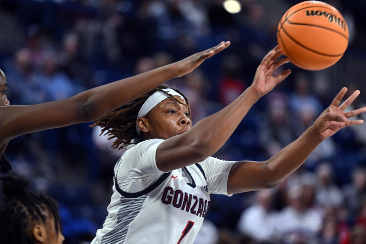
<svg viewBox="0 0 366 244"><path fill-rule="evenodd" d="M122 149L140 141L168 139L191 128L187 98L179 90L158 86L141 97L108 113L91 125L114 139L113 148Z"/></svg>

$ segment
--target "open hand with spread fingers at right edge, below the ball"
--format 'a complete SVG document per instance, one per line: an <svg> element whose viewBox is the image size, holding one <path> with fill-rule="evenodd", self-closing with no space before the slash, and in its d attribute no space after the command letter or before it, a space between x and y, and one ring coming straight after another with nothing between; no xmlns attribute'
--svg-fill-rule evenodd
<svg viewBox="0 0 366 244"><path fill-rule="evenodd" d="M341 128L362 124L363 120L348 120L349 118L359 115L360 113L366 112L366 107L352 110L349 112L344 112L348 106L355 100L355 98L360 94L359 90L354 91L354 93L347 98L343 104L340 104L342 98L347 93L347 88L343 87L338 95L334 98L332 104L324 110L324 112L315 120L313 126L316 128L320 139L324 140L332 135L334 135Z"/></svg>

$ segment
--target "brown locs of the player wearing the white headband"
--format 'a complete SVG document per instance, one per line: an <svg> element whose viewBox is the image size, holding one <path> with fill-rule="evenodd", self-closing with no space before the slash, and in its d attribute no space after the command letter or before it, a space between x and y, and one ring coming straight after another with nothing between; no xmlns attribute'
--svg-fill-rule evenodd
<svg viewBox="0 0 366 244"><path fill-rule="evenodd" d="M131 143L132 139L141 138L136 131L136 120L138 112L141 109L143 103L147 100L147 98L149 98L156 91L161 91L167 94L179 104L183 104L173 95L167 93L166 91L163 91L163 89L166 88L173 89L172 87L168 87L165 85L158 86L154 90L143 94L141 97L138 97L135 100L132 100L131 102L128 102L127 104L113 110L112 112L107 113L107 115L98 119L93 125L90 125L90 127L102 127L102 132L100 135L102 135L103 133L105 133L104 135L109 135L108 140L116 138L115 141L112 143L112 148L120 150L123 149L123 147L128 146L129 144L133 144ZM189 119L192 120L191 108L189 106L188 99L178 89L173 90L181 94L184 100L186 100L187 104L183 105L186 105L188 107Z"/></svg>

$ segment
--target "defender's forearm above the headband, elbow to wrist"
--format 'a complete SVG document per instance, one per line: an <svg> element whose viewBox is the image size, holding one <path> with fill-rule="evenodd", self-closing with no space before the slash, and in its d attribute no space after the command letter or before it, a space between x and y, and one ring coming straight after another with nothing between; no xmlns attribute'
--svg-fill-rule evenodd
<svg viewBox="0 0 366 244"><path fill-rule="evenodd" d="M86 120L93 121L174 78L175 75L174 64L169 64L90 89L76 95L75 98L83 102Z"/></svg>

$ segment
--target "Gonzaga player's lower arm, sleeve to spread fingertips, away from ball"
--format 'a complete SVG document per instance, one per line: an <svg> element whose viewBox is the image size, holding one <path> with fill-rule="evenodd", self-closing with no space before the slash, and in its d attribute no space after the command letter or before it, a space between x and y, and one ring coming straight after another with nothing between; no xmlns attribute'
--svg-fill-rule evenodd
<svg viewBox="0 0 366 244"><path fill-rule="evenodd" d="M228 192L239 193L273 187L305 162L310 153L323 140L334 135L341 128L362 124L363 120L348 120L366 112L366 107L350 112L344 110L360 94L356 90L342 105L340 101L347 88L341 89L332 104L318 117L297 140L264 162L236 162L229 173Z"/></svg>

